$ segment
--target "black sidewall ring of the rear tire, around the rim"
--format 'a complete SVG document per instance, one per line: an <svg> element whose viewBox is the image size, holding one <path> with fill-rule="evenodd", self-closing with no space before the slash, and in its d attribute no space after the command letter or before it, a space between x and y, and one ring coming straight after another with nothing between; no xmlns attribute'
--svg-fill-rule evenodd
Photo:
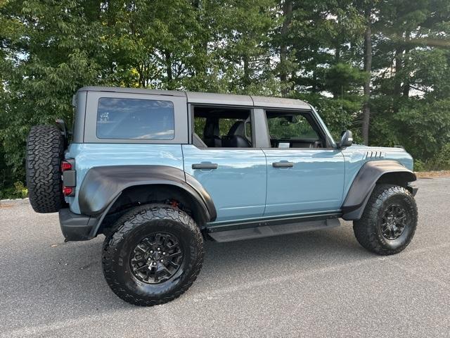
<svg viewBox="0 0 450 338"><path fill-rule="evenodd" d="M131 272L130 258L136 245L153 232L166 232L176 236L183 250L183 262L169 280L158 284L147 284L138 280ZM199 256L198 242L187 227L174 220L150 220L134 225L133 229L117 243L111 264L115 271L116 282L126 287L129 294L139 299L152 301L163 299L179 291L195 272Z"/></svg>

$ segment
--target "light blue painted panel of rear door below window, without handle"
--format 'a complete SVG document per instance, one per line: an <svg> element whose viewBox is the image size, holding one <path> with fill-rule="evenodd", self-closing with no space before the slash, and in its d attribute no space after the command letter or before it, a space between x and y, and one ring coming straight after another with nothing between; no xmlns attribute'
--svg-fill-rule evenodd
<svg viewBox="0 0 450 338"><path fill-rule="evenodd" d="M184 170L210 193L217 222L259 218L266 204L266 156L261 149L199 149L183 145ZM194 163L217 163L217 169L194 170Z"/></svg>

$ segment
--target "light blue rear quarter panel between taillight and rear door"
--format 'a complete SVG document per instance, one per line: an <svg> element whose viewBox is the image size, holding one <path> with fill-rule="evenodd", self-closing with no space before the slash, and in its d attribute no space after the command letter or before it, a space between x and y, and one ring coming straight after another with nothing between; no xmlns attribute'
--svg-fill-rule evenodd
<svg viewBox="0 0 450 338"><path fill-rule="evenodd" d="M181 144L72 143L65 154L75 158L77 187L68 197L70 211L80 213L78 192L89 169L105 165L168 165L183 170Z"/></svg>

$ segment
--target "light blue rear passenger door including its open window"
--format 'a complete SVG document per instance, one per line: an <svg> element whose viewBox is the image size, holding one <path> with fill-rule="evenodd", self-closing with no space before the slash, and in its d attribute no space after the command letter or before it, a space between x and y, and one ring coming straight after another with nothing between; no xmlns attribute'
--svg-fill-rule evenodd
<svg viewBox="0 0 450 338"><path fill-rule="evenodd" d="M183 145L184 170L212 197L214 223L262 217L266 156L254 146L252 107L197 105L191 113L194 141Z"/></svg>

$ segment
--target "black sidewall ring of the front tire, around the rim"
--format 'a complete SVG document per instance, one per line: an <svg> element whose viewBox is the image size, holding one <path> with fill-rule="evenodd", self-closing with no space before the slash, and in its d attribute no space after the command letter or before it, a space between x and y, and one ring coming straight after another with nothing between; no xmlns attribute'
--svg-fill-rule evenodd
<svg viewBox="0 0 450 338"><path fill-rule="evenodd" d="M399 204L402 208L404 208L406 212L406 227L404 231L401 233L400 237L397 239L387 239L383 236L383 232L381 230L381 226L383 223L383 214L392 206L392 204ZM378 242L388 250L397 250L400 249L411 242L413 238L414 232L416 231L417 224L417 213L415 204L412 201L412 197L409 194L403 193L392 193L386 199L384 199L383 203L380 204L377 213L377 219L375 223L375 231L377 234Z"/></svg>

